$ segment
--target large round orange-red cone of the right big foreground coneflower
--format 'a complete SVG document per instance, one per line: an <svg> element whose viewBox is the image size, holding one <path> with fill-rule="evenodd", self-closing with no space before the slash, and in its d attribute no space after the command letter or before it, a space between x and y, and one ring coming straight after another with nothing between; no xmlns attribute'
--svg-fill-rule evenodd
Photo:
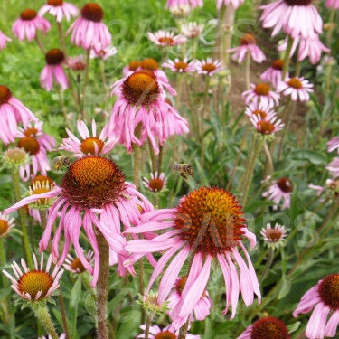
<svg viewBox="0 0 339 339"><path fill-rule="evenodd" d="M244 213L235 196L217 187L203 187L184 197L177 207L175 229L191 250L215 257L238 246L244 234Z"/></svg>

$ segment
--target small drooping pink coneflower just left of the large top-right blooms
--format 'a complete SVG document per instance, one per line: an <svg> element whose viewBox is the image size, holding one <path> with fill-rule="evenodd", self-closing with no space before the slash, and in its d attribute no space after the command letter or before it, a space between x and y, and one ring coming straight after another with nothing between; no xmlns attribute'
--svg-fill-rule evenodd
<svg viewBox="0 0 339 339"><path fill-rule="evenodd" d="M244 61L246 54L250 52L253 61L261 63L266 60L265 54L257 46L256 38L250 34L245 34L240 40L240 47L231 48L227 52L235 52L232 56L233 60L238 60L238 63Z"/></svg>

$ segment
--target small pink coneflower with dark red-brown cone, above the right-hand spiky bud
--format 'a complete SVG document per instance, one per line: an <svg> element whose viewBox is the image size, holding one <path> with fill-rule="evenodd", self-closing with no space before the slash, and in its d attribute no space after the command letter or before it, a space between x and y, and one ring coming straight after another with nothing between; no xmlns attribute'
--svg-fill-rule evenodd
<svg viewBox="0 0 339 339"><path fill-rule="evenodd" d="M273 180L268 191L262 193L262 196L276 203L273 206L273 210L278 210L278 204L283 200L281 210L285 210L290 207L292 188L293 184L290 179L280 178L278 180Z"/></svg>

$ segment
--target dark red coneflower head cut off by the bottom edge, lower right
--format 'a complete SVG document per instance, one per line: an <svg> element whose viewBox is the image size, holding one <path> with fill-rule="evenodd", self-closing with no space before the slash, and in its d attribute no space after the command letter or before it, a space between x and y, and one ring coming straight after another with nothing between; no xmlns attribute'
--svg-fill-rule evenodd
<svg viewBox="0 0 339 339"><path fill-rule="evenodd" d="M290 339L287 325L274 316L260 318L237 339Z"/></svg>

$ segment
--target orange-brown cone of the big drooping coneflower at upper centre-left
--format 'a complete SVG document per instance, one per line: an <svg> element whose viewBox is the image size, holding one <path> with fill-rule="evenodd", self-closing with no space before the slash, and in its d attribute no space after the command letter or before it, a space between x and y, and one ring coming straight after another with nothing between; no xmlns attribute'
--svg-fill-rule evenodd
<svg viewBox="0 0 339 339"><path fill-rule="evenodd" d="M136 71L124 81L122 93L131 104L149 105L158 99L160 89L154 74Z"/></svg>

